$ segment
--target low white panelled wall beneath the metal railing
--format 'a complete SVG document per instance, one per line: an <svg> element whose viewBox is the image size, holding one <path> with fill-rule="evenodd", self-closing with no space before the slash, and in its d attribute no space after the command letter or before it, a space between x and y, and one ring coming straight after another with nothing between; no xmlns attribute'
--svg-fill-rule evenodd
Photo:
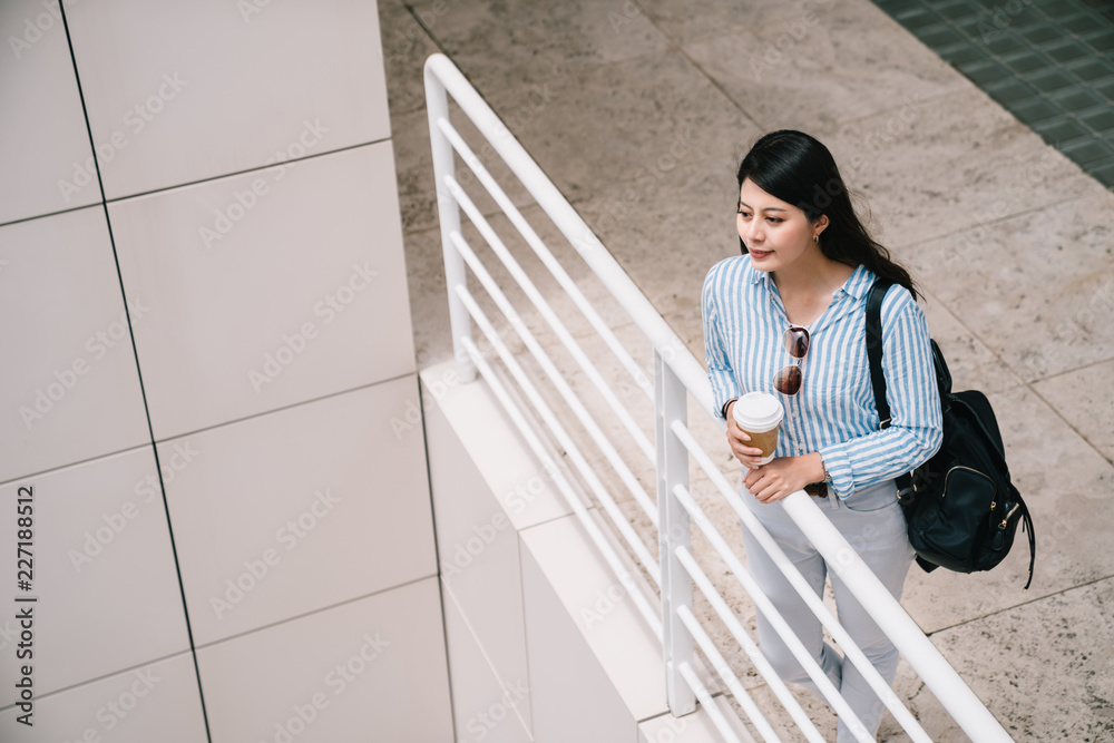
<svg viewBox="0 0 1114 743"><path fill-rule="evenodd" d="M661 644L487 383L420 378L457 740L719 741L670 714Z"/></svg>

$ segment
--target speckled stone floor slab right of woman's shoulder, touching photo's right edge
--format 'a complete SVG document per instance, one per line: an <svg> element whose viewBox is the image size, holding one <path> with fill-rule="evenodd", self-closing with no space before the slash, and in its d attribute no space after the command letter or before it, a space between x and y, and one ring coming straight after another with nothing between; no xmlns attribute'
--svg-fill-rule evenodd
<svg viewBox="0 0 1114 743"><path fill-rule="evenodd" d="M1086 185L1054 208L899 251L1026 381L1114 356L1114 228L1102 218L1114 195ZM979 291L957 281L960 272L980 277Z"/></svg>

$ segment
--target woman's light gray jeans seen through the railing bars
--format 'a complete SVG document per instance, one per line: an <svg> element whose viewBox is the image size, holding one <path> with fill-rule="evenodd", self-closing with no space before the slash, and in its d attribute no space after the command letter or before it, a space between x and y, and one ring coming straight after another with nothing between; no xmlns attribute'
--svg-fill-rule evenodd
<svg viewBox="0 0 1114 743"><path fill-rule="evenodd" d="M887 639L836 573L832 571L829 576L823 557L789 518L782 505L760 504L754 500L754 496L745 486L742 489L742 498L770 535L778 540L818 596L822 596L824 578L831 578L840 624L862 648L882 678L892 684L898 668L897 648ZM909 571L915 553L906 534L906 520L898 505L897 486L893 481L887 480L862 488L846 501L832 497L825 500L817 498L813 502L831 519L843 538L859 553L893 597L900 599L906 574ZM862 674L851 663L844 664L838 651L824 642L820 620L745 527L743 527L743 541L754 579L873 735L882 720L885 708L878 695L870 690ZM758 613L758 625L762 652L782 680L807 686L820 695L815 684L761 612ZM842 721L839 723L836 740L837 743L854 741Z"/></svg>

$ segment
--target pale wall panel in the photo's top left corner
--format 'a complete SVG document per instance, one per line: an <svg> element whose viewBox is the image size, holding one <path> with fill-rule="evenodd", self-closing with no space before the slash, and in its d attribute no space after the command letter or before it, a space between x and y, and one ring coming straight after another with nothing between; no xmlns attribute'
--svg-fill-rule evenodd
<svg viewBox="0 0 1114 743"><path fill-rule="evenodd" d="M0 3L0 224L99 202L58 3Z"/></svg>

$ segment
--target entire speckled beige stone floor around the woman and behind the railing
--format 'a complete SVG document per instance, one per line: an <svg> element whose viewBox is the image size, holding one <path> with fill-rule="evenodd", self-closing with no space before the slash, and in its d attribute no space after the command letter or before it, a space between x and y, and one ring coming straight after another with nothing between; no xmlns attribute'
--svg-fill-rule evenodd
<svg viewBox="0 0 1114 743"><path fill-rule="evenodd" d="M1029 592L1020 590L1028 560L1018 534L1014 553L988 574L913 568L903 605L1016 740L1114 740L1114 553L1105 548L1114 532L1114 195L869 0L380 0L380 16L422 366L451 354L421 90L428 53L453 59L697 359L704 274L739 251L737 158L771 128L824 140L869 205L876 234L918 281L956 388L990 395L1037 525ZM492 173L647 368L648 346L575 248L505 168ZM495 214L475 183L467 188ZM642 390L506 218L491 224L652 434ZM475 228L463 233L494 266ZM510 295L653 493L645 459L587 377L520 294ZM500 338L520 349L490 300L480 303ZM556 400L551 388L544 395ZM567 412L559 417L574 426ZM740 466L715 427L690 418L737 481ZM603 462L582 440L585 457ZM654 551L653 526L620 479L604 471L602 480ZM737 518L695 468L692 489L742 553ZM693 551L753 629L751 600L723 561L700 537ZM712 616L700 598L694 610ZM775 706L726 632L712 629L744 685ZM968 740L903 664L896 690L934 740ZM827 705L798 696L832 737ZM794 739L784 713L772 714ZM908 737L887 718L879 740Z"/></svg>

